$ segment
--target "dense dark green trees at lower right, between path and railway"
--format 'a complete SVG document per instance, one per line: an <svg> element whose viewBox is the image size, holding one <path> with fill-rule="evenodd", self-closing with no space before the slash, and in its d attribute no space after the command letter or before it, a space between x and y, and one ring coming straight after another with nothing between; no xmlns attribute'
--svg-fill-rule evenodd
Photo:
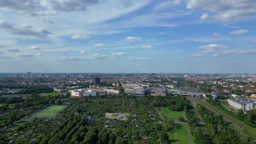
<svg viewBox="0 0 256 144"><path fill-rule="evenodd" d="M197 112L206 123L205 128L213 143L254 143L253 137L246 137L238 133L223 117L205 109L202 105L196 106Z"/></svg>

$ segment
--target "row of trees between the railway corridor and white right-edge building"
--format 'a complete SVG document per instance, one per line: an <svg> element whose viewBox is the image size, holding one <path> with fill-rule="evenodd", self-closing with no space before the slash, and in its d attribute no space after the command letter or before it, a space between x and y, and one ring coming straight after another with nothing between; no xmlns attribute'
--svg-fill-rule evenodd
<svg viewBox="0 0 256 144"><path fill-rule="evenodd" d="M243 113L242 110L238 110L237 114L235 114L234 112L227 110L215 99L208 99L206 101L208 104L216 107L217 109L226 113L227 115L234 117L242 122L245 122L245 124L248 125L249 127L254 127L255 125L254 120L256 119L256 110L249 110L246 114Z"/></svg>

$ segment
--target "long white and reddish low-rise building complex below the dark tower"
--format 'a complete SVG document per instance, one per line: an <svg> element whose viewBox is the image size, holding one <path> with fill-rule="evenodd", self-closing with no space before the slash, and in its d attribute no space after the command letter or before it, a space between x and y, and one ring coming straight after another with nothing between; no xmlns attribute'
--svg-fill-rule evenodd
<svg viewBox="0 0 256 144"><path fill-rule="evenodd" d="M106 96L107 91L103 90L96 90L96 89L74 89L70 90L70 97L71 98L84 98L88 96Z"/></svg>

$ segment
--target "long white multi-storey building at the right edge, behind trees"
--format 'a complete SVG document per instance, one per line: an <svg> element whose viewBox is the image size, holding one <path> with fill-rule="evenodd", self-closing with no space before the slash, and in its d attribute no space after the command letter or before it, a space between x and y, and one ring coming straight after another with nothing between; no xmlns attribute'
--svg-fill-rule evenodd
<svg viewBox="0 0 256 144"><path fill-rule="evenodd" d="M242 109L243 111L249 111L256 109L256 101L243 98L230 98L228 99L228 104L235 110Z"/></svg>

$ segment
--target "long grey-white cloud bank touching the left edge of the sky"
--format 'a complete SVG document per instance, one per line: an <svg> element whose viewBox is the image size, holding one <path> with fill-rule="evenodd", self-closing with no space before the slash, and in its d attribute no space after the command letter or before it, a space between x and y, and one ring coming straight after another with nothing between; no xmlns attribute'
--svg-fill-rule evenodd
<svg viewBox="0 0 256 144"><path fill-rule="evenodd" d="M2 19L0 19L0 28L11 34L22 35L32 39L45 39L48 37L48 34L52 34L43 28L32 29L31 26L17 27L14 23Z"/></svg>

